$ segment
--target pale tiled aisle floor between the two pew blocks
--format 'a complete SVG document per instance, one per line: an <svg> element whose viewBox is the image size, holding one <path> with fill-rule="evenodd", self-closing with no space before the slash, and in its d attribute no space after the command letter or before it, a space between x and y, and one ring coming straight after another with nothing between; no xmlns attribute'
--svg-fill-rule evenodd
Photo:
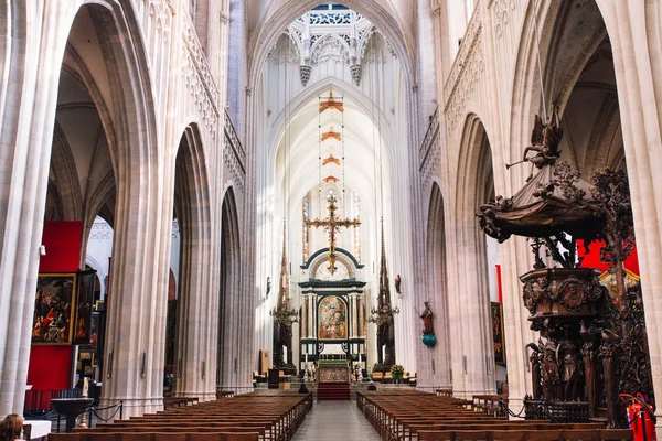
<svg viewBox="0 0 662 441"><path fill-rule="evenodd" d="M380 441L356 401L314 404L292 441Z"/></svg>

